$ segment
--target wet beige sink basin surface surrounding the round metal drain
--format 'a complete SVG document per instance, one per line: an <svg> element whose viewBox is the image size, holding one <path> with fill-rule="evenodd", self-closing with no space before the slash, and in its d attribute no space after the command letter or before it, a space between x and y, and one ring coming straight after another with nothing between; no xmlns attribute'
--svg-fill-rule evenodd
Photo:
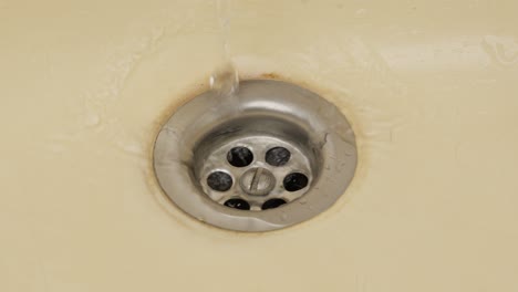
<svg viewBox="0 0 518 292"><path fill-rule="evenodd" d="M242 77L338 104L360 165L269 233L200 223L151 167L222 61L213 1L0 1L0 291L518 291L518 2L234 1Z"/></svg>

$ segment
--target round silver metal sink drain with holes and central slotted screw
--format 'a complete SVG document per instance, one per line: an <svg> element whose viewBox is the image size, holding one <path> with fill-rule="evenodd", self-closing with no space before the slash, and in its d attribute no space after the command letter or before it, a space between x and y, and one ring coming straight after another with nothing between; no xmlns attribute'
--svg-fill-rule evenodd
<svg viewBox="0 0 518 292"><path fill-rule="evenodd" d="M158 182L184 211L238 231L308 220L345 191L354 134L340 111L286 82L244 81L231 98L206 92L158 134Z"/></svg>

